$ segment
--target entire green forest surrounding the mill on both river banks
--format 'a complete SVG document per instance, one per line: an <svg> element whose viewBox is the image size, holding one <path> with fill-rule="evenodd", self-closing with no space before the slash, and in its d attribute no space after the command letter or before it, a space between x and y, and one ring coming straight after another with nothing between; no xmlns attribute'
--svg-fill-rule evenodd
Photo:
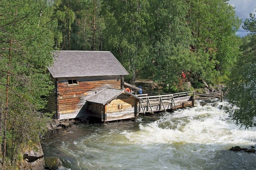
<svg viewBox="0 0 256 170"><path fill-rule="evenodd" d="M16 166L51 114L40 112L53 84L54 50L111 51L136 78L163 92L226 84L237 125L255 126L256 17L242 20L227 0L1 0L0 141L2 167Z"/></svg>

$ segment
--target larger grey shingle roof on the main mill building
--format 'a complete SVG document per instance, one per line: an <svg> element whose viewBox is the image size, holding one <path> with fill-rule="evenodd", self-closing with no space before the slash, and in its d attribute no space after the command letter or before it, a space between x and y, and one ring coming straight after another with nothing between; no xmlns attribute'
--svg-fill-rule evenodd
<svg viewBox="0 0 256 170"><path fill-rule="evenodd" d="M110 51L56 51L53 78L129 75Z"/></svg>

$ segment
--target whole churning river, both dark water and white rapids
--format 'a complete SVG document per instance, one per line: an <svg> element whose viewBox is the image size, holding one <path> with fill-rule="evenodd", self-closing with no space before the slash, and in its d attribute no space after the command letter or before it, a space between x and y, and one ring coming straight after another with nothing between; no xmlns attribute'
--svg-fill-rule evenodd
<svg viewBox="0 0 256 170"><path fill-rule="evenodd" d="M135 122L73 125L42 141L44 156L71 169L256 169L256 154L228 150L256 144L256 127L239 129L229 108L198 100L197 107Z"/></svg>

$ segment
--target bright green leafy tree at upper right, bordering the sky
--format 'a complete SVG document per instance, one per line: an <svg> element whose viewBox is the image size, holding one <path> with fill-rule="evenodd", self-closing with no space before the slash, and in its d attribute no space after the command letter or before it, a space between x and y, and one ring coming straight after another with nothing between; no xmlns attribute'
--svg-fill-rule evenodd
<svg viewBox="0 0 256 170"><path fill-rule="evenodd" d="M236 31L241 20L234 7L222 0L190 0L187 18L195 40L191 48L202 64L192 73L198 75L199 71L201 78L213 84L213 78L229 73L239 56Z"/></svg>

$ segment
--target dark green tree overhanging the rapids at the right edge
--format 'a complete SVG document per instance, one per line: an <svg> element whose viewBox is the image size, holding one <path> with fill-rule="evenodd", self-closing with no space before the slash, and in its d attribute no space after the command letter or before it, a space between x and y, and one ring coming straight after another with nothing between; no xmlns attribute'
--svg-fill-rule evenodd
<svg viewBox="0 0 256 170"><path fill-rule="evenodd" d="M242 40L242 55L233 67L228 81L228 100L237 109L230 112L233 120L241 127L256 126L256 17L250 14L244 22L244 29L250 35Z"/></svg>

